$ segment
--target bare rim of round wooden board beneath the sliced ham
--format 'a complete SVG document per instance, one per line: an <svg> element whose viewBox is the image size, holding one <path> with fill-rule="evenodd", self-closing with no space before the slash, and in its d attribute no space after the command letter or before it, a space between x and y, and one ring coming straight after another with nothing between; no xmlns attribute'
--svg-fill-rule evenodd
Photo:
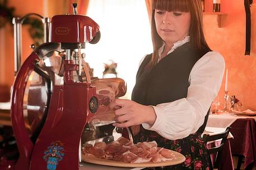
<svg viewBox="0 0 256 170"><path fill-rule="evenodd" d="M173 150L171 151L174 153L175 159L171 161L157 162L157 163L153 163L153 162L129 163L129 162L123 162L123 161L100 159L100 158L85 156L84 154L82 154L82 161L94 163L94 164L100 164L104 166L113 166L113 167L162 167L162 166L172 166L175 164L180 164L185 161L185 157L182 154L175 152Z"/></svg>

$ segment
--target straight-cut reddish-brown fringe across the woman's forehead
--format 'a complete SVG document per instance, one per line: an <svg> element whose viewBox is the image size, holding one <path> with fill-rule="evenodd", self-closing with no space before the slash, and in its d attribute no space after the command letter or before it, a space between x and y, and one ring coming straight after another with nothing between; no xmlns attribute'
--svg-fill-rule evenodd
<svg viewBox="0 0 256 170"><path fill-rule="evenodd" d="M153 0L152 9L189 12L189 1L194 0Z"/></svg>

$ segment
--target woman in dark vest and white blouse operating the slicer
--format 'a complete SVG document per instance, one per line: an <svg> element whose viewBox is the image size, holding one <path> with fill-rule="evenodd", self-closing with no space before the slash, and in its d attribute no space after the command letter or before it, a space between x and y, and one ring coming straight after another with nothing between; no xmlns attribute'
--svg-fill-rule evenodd
<svg viewBox="0 0 256 170"><path fill-rule="evenodd" d="M225 70L203 35L201 0L152 1L153 53L139 66L132 100L116 99L116 127L140 125L136 142L156 140L186 157L167 169L209 169L201 134ZM119 109L117 109L119 108Z"/></svg>

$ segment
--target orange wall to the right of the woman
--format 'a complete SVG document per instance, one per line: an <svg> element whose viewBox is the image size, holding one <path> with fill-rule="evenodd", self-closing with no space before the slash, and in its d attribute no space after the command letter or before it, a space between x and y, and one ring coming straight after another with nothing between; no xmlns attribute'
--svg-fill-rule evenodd
<svg viewBox="0 0 256 170"><path fill-rule="evenodd" d="M242 109L256 110L256 2L251 7L252 38L250 56L245 56L245 9L243 0L221 0L222 27L217 27L215 15L204 14L204 31L212 50L220 52L229 70L229 95L235 95ZM206 0L206 12L212 10L212 0ZM224 104L225 76L218 97Z"/></svg>

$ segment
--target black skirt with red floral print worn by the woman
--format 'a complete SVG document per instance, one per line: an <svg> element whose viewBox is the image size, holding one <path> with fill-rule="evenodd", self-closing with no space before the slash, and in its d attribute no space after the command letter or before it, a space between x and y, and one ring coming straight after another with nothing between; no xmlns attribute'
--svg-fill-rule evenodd
<svg viewBox="0 0 256 170"><path fill-rule="evenodd" d="M143 135L142 135L143 134ZM137 140L137 141L136 141ZM170 170L210 170L211 159L207 152L201 133L190 134L188 137L177 140L168 140L161 137L156 132L141 128L139 135L136 136L135 142L150 142L155 140L158 147L175 150L185 156L185 162L164 168L148 168L148 169L170 169Z"/></svg>

